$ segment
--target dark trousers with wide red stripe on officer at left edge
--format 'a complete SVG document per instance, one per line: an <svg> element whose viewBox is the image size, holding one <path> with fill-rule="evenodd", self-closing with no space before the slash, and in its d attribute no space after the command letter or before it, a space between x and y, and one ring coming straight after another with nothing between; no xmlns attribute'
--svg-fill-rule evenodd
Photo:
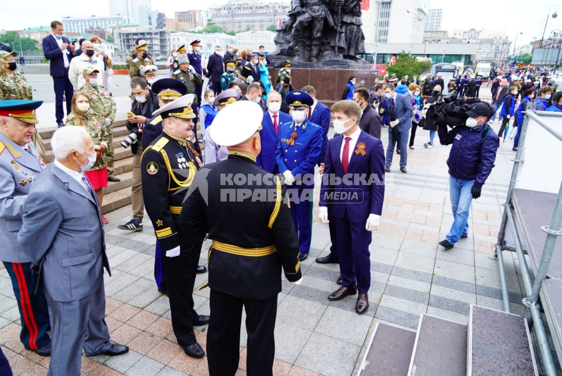
<svg viewBox="0 0 562 376"><path fill-rule="evenodd" d="M51 338L47 330L49 324L49 308L47 300L41 290L35 293L39 280L38 274L31 274L30 262L3 262L10 279L13 293L16 296L17 307L20 310L21 333L20 339L25 347L36 350L42 348Z"/></svg>

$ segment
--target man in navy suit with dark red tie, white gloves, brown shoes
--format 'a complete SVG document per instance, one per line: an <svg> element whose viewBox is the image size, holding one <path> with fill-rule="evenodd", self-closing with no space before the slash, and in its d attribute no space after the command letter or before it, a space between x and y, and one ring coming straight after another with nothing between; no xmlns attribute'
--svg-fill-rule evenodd
<svg viewBox="0 0 562 376"><path fill-rule="evenodd" d="M328 299L337 301L359 292L355 306L358 314L369 308L369 244L371 231L379 226L384 200L383 144L359 128L362 112L353 101L339 101L332 106L334 128L339 136L328 144L318 216L321 223L328 223L330 205L338 231L343 281L342 287ZM362 180L357 179L359 176Z"/></svg>

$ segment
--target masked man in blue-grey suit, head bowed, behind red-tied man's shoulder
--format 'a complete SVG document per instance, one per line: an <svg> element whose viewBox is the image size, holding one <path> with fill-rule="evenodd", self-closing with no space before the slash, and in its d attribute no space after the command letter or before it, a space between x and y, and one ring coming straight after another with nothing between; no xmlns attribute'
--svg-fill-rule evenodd
<svg viewBox="0 0 562 376"><path fill-rule="evenodd" d="M414 108L412 107L412 102L407 99L406 96L398 94L395 91L393 84L386 84L384 86L384 93L386 96L386 99L384 100L384 108L388 109L388 106L392 105L396 115L396 120L387 119L390 127L388 127L387 159L384 171L390 172L392 156L394 155L394 147L397 144L397 149L400 150L400 171L406 173L406 162L408 159L408 133L412 127L411 116L414 112ZM384 111L387 110L383 110L383 113ZM396 140L396 131L393 131L393 128L395 127L396 131L398 131L398 140Z"/></svg>

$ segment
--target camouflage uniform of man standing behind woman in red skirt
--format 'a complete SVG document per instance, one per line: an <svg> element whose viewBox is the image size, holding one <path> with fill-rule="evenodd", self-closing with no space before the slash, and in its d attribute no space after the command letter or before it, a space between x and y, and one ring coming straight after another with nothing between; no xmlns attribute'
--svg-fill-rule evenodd
<svg viewBox="0 0 562 376"><path fill-rule="evenodd" d="M110 121L110 124L106 124L107 150L105 162L107 165L107 176L112 177L115 175L115 154L113 150L113 122L115 120L115 111L117 110L115 100L110 95L109 90L101 85L93 87L85 84L78 91L88 96L90 108L95 113Z"/></svg>

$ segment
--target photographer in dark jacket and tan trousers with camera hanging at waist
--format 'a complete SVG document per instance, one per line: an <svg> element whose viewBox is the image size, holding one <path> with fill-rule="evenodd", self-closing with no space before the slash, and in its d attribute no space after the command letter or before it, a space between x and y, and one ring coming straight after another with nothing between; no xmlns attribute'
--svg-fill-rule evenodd
<svg viewBox="0 0 562 376"><path fill-rule="evenodd" d="M142 156L142 131L152 113L160 108L158 96L148 87L142 77L133 77L130 82L131 91L135 97L131 110L127 113L127 123L130 135L121 142L123 147L131 147L133 158L133 187L131 200L133 204L133 218L124 225L117 226L121 230L142 231L144 216L144 202L142 196L142 182L140 181L140 157Z"/></svg>

